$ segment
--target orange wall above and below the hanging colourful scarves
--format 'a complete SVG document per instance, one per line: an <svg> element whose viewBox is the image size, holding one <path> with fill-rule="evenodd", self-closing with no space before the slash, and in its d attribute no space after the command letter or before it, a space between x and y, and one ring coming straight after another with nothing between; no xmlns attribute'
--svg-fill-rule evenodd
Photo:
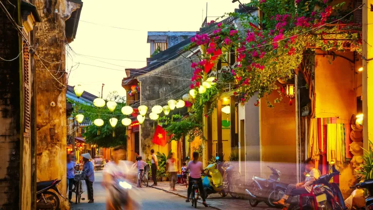
<svg viewBox="0 0 373 210"><path fill-rule="evenodd" d="M319 52L320 53L320 52ZM353 53L338 53L353 60ZM322 55L315 57L315 91L317 118L339 117L337 123L349 123L352 114L356 114L356 96L361 88L361 73L356 73L361 61L350 61L336 57L329 62ZM355 90L356 89L356 90ZM339 187L344 197L350 195L350 186L355 182L353 168L348 165L340 169Z"/></svg>

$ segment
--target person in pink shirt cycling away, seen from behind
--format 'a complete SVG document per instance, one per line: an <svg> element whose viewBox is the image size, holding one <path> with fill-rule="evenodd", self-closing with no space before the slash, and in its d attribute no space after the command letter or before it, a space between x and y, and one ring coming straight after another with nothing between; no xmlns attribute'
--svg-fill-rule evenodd
<svg viewBox="0 0 373 210"><path fill-rule="evenodd" d="M198 161L199 155L198 152L193 152L193 161L190 161L188 163L188 166L186 167L186 171L189 170L189 186L188 186L188 195L186 202L189 202L190 194L192 193L192 180L198 181L198 189L200 190L200 195L203 200L203 206L208 207L206 204L206 199L204 198L204 191L202 186L202 178L201 173L204 173L202 162ZM206 175L206 174L205 174Z"/></svg>

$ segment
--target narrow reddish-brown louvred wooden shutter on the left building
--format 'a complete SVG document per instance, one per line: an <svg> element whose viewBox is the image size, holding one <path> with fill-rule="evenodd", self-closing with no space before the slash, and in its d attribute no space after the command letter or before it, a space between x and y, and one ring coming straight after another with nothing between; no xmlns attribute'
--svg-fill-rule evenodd
<svg viewBox="0 0 373 210"><path fill-rule="evenodd" d="M23 124L24 132L30 133L30 51L29 47L24 43L23 47Z"/></svg>

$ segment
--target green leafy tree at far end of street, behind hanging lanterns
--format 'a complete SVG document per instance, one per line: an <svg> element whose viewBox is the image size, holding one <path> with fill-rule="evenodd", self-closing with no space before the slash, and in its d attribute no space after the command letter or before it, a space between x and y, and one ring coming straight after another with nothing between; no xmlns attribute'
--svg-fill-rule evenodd
<svg viewBox="0 0 373 210"><path fill-rule="evenodd" d="M125 106L125 98L119 96L117 92L112 92L108 95L106 101L116 101L118 103L114 112L110 112L109 109L104 106L102 108L96 107L90 104L77 104L75 101L68 99L68 102L73 105L74 112L72 116L75 117L77 114L83 114L85 121L90 121L92 124L85 128L85 141L89 144L97 144L99 147L115 147L118 145L127 144L126 127L121 124L121 119L124 118L121 107ZM104 124L101 127L97 127L93 124L95 119L102 119ZM115 128L112 128L109 119L117 118L118 123ZM115 137L113 137L115 132ZM100 133L100 135L98 134Z"/></svg>

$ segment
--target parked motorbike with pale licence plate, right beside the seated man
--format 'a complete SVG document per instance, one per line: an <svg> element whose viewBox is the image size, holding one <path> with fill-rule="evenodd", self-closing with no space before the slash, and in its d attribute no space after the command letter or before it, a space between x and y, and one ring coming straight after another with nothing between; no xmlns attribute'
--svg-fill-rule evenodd
<svg viewBox="0 0 373 210"><path fill-rule="evenodd" d="M333 167L333 173L322 175L313 182L309 194L293 196L290 199L291 210L346 210L342 193L336 183L330 183L339 171ZM289 200L288 200L289 201Z"/></svg>

